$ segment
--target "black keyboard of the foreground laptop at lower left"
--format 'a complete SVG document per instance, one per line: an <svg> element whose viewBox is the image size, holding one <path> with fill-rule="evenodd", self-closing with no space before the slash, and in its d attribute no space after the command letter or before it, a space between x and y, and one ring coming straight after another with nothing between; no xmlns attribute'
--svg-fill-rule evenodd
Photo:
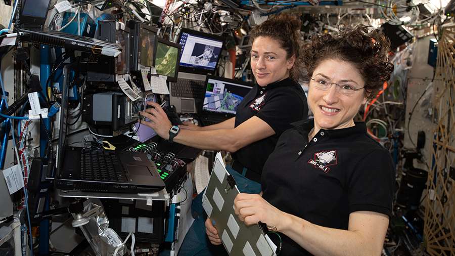
<svg viewBox="0 0 455 256"><path fill-rule="evenodd" d="M119 181L124 182L125 175L116 172L115 165L120 161L113 150L82 148L80 151L80 177L88 181Z"/></svg>

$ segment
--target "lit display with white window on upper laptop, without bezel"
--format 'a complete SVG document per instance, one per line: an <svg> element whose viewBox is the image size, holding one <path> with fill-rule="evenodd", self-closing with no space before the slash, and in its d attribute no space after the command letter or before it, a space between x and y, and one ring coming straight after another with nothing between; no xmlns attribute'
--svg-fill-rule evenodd
<svg viewBox="0 0 455 256"><path fill-rule="evenodd" d="M214 70L223 42L204 36L182 33L180 66Z"/></svg>

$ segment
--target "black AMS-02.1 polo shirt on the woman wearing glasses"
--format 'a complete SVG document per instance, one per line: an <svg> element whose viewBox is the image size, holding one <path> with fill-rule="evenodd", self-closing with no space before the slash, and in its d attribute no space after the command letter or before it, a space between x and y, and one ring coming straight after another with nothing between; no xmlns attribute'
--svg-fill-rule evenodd
<svg viewBox="0 0 455 256"><path fill-rule="evenodd" d="M310 142L308 133L314 120L293 125L265 163L261 178L265 200L288 214L335 229L347 230L353 211L391 216L393 159L367 134L365 122L346 129L321 130ZM280 235L280 255L311 255Z"/></svg>

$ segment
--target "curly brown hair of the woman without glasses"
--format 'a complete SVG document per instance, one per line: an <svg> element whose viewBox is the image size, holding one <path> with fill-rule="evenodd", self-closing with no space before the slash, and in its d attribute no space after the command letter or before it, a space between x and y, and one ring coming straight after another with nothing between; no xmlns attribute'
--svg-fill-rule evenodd
<svg viewBox="0 0 455 256"><path fill-rule="evenodd" d="M282 13L253 27L248 37L248 41L251 43L250 45L253 45L254 40L259 36L269 37L270 39L276 40L281 48L286 51L286 59L295 55L294 66L289 70L289 77L297 82L303 78L303 72L300 67L302 50L299 29L301 27L302 21L298 17L288 13Z"/></svg>

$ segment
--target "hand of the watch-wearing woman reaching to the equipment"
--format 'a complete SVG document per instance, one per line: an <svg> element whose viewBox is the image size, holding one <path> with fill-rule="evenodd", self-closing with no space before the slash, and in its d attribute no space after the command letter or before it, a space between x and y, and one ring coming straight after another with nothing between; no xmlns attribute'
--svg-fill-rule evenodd
<svg viewBox="0 0 455 256"><path fill-rule="evenodd" d="M156 102L147 101L147 105L152 106L153 108L148 108L146 111L139 111L141 115L150 119L150 122L140 120L141 124L147 125L155 131L161 138L167 140L169 139L169 130L172 127L172 124L167 118L166 113Z"/></svg>

